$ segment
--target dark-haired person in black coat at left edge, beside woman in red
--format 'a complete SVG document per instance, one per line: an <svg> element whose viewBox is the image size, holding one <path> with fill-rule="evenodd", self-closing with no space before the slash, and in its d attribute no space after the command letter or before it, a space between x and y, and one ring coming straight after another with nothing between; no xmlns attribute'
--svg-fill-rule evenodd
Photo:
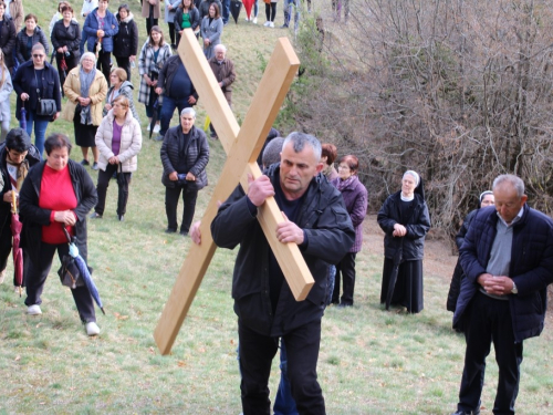
<svg viewBox="0 0 553 415"><path fill-rule="evenodd" d="M6 142L0 143L0 283L4 281L6 266L11 251L10 222L13 193L19 204L19 190L29 168L40 160L38 148L31 144L31 137L23 128L11 129L6 136Z"/></svg>

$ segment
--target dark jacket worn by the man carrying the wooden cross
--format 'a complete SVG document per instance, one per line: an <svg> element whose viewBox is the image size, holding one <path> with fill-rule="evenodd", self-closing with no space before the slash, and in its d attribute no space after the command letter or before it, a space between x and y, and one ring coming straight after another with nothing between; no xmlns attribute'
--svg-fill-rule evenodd
<svg viewBox="0 0 553 415"><path fill-rule="evenodd" d="M273 186L280 186L280 165L265 170ZM247 196L239 186L211 222L218 247L240 245L232 278L234 312L251 330L271 336L283 335L320 320L325 307L328 263L337 263L354 242L355 231L338 190L319 174L303 196L295 224L306 235L300 247L315 283L304 301L295 301L284 281L273 314L269 292L269 242L259 220L250 214Z"/></svg>

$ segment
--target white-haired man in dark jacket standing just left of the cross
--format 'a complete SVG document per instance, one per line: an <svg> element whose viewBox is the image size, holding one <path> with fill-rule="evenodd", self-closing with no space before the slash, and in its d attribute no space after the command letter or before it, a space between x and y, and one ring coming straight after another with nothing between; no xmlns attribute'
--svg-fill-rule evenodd
<svg viewBox="0 0 553 415"><path fill-rule="evenodd" d="M206 134L194 126L196 111L186 107L180 112L180 125L167 129L161 144L161 164L165 186L166 234L177 231L177 205L182 193L182 221L180 235L187 236L196 210L198 190L207 186L206 166L209 145Z"/></svg>

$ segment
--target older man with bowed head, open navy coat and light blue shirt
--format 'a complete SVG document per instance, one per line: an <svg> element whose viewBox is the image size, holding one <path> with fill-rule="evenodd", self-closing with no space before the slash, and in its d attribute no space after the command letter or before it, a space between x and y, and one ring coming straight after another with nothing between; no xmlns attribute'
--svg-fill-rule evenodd
<svg viewBox="0 0 553 415"><path fill-rule="evenodd" d="M513 175L493 181L495 207L477 211L460 250L466 278L453 328L465 331L465 369L455 415L479 414L491 342L499 365L494 414L514 414L522 342L543 330L553 282L553 221L526 205ZM487 405L489 406L489 405Z"/></svg>

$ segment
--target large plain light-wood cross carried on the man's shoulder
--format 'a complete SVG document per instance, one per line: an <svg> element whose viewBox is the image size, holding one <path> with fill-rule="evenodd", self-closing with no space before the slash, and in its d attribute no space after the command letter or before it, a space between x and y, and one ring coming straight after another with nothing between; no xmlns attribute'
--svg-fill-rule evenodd
<svg viewBox="0 0 553 415"><path fill-rule="evenodd" d="M217 215L217 201L226 200L239 183L247 191L248 175L261 176L255 160L300 65L290 41L279 39L240 128L192 30L184 31L178 53L217 129L227 162L201 219L201 245L191 245L154 331L161 354L170 352L213 257L216 245L209 228ZM258 220L294 298L304 300L314 280L298 246L276 239L276 226L284 219L274 198L267 199L260 207Z"/></svg>

